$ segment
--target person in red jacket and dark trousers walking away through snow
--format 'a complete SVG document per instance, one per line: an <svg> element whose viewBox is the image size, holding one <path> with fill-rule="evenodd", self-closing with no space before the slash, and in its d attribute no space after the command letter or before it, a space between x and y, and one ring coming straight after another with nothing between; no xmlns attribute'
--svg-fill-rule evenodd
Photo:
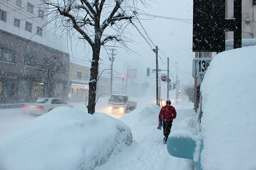
<svg viewBox="0 0 256 170"><path fill-rule="evenodd" d="M164 144L166 144L168 136L170 135L172 128L172 120L176 118L176 110L173 106L171 106L171 101L167 100L166 105L163 106L159 113L159 121L163 119L163 127L164 127Z"/></svg>

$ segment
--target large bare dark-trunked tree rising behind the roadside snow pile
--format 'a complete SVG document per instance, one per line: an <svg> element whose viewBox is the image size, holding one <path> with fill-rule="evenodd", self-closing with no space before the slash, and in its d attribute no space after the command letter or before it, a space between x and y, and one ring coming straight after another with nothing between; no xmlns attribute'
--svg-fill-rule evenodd
<svg viewBox="0 0 256 170"><path fill-rule="evenodd" d="M124 0L49 0L42 2L49 5L49 11L52 14L51 19L55 23L60 23L65 28L69 36L78 32L80 37L87 41L92 48L92 64L89 82L88 113L95 112L96 85L98 76L98 66L100 59L100 48L108 41L116 41L125 46L125 37L123 36L125 27L132 22L134 13L136 13L136 0L131 4L125 1L124 9L121 4ZM56 3L57 2L57 3ZM142 4L144 0L140 0ZM131 15L127 15L132 11ZM58 21L57 21L58 20ZM122 22L124 21L124 22ZM56 24L56 25L58 25ZM64 26L64 27L63 27ZM108 26L115 30L115 34L103 34Z"/></svg>

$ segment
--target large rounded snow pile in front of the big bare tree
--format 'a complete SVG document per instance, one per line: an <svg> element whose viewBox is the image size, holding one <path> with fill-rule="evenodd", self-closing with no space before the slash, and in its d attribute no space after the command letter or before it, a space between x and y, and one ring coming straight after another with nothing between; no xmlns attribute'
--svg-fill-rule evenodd
<svg viewBox="0 0 256 170"><path fill-rule="evenodd" d="M57 107L0 137L0 169L93 169L131 142L131 129L116 118Z"/></svg>

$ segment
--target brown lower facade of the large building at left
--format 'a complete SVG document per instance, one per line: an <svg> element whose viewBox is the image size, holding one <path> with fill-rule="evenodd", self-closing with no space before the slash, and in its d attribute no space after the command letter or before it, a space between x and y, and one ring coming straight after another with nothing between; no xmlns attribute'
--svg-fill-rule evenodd
<svg viewBox="0 0 256 170"><path fill-rule="evenodd" d="M68 53L0 29L0 104L45 97L46 58L57 58L64 64L51 79L52 96L67 100Z"/></svg>

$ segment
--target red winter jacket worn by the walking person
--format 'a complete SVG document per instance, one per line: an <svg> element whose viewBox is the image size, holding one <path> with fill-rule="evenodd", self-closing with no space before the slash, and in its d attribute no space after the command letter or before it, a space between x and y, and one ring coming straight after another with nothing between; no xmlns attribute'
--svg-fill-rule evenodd
<svg viewBox="0 0 256 170"><path fill-rule="evenodd" d="M163 118L164 121L172 121L176 118L176 110L171 105L165 105L161 108L159 113L159 121Z"/></svg>

